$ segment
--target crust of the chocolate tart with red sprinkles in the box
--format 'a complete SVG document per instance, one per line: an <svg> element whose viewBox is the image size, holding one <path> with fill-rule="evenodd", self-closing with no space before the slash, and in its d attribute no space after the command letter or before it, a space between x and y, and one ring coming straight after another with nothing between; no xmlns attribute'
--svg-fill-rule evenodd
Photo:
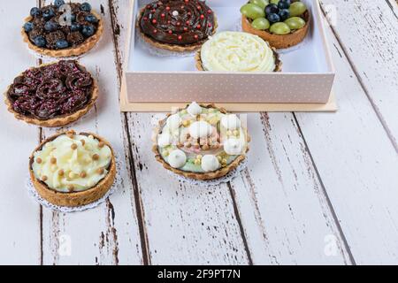
<svg viewBox="0 0 398 283"><path fill-rule="evenodd" d="M164 42L157 42L155 40L153 40L152 38L150 38L149 36L147 36L146 34L142 33L141 27L140 27L140 21L142 18L142 11L145 10L145 7L143 7L139 13L137 22L136 22L136 27L137 29L140 31L140 35L142 36L142 39L149 43L150 45L158 48L158 49L162 49L162 50L170 50L170 51L174 51L174 52L187 52L187 51L194 51L194 50L198 50L199 48L201 48L201 46L203 45L203 43L206 40L197 42L195 44L189 44L189 45L185 45L185 46L181 46L181 45L177 45L177 44L168 44L168 43L164 43ZM217 17L214 14L214 28L213 28L213 34L216 33L218 28L218 21L217 21Z"/></svg>

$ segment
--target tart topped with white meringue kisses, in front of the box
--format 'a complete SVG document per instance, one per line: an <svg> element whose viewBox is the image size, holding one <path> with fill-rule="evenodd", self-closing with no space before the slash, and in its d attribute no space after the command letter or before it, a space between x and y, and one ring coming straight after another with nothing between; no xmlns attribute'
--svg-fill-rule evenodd
<svg viewBox="0 0 398 283"><path fill-rule="evenodd" d="M195 180L214 180L238 167L249 150L241 119L214 104L191 103L155 130L153 151L165 169Z"/></svg>

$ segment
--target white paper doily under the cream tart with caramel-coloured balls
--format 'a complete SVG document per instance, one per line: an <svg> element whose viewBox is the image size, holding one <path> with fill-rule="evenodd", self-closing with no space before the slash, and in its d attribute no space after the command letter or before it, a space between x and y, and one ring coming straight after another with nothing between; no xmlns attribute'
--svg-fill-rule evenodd
<svg viewBox="0 0 398 283"><path fill-rule="evenodd" d="M42 204L42 206L45 206L47 208L49 208L50 210L57 210L60 212L65 212L65 213L70 213L70 212L78 212L78 211L84 211L84 210L91 210L96 208L98 205L100 205L101 203L104 203L105 200L112 195L118 188L120 188L122 186L122 178L120 176L120 172L121 172L121 168L123 166L121 159L119 157L119 154L116 153L115 154L115 160L116 160L116 176L115 176L115 181L113 182L113 185L111 186L111 188L108 190L108 192L106 192L105 195L103 195L102 198L100 198L99 200L97 200L94 203L88 203L86 205L82 205L82 206L76 206L76 207L67 207L67 206L59 206L59 205L55 205L52 203L49 203L48 201L46 201L45 199L42 198L42 196L40 196L36 189L34 188L34 185L32 183L32 180L30 180L30 177L27 177L26 180L26 187L27 187L27 192L29 193L29 195L31 195L34 200L40 204Z"/></svg>

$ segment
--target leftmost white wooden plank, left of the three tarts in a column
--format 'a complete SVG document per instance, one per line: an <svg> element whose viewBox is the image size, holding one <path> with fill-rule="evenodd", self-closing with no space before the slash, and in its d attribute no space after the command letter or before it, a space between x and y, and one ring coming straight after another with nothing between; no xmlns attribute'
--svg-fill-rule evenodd
<svg viewBox="0 0 398 283"><path fill-rule="evenodd" d="M34 5L34 1L27 1L28 4ZM0 7L2 94L15 76L36 62L18 36L27 12L16 1L6 1ZM14 119L3 99L1 103L0 155L4 159L0 166L0 264L40 264L40 205L34 203L25 188L27 161L38 141L37 129Z"/></svg>

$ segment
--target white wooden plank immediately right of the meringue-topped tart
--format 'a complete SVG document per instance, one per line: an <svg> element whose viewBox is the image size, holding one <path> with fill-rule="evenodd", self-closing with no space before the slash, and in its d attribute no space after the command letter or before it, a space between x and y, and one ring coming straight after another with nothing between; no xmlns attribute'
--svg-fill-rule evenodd
<svg viewBox="0 0 398 283"><path fill-rule="evenodd" d="M256 264L352 264L292 113L249 114L248 169L231 182Z"/></svg>

